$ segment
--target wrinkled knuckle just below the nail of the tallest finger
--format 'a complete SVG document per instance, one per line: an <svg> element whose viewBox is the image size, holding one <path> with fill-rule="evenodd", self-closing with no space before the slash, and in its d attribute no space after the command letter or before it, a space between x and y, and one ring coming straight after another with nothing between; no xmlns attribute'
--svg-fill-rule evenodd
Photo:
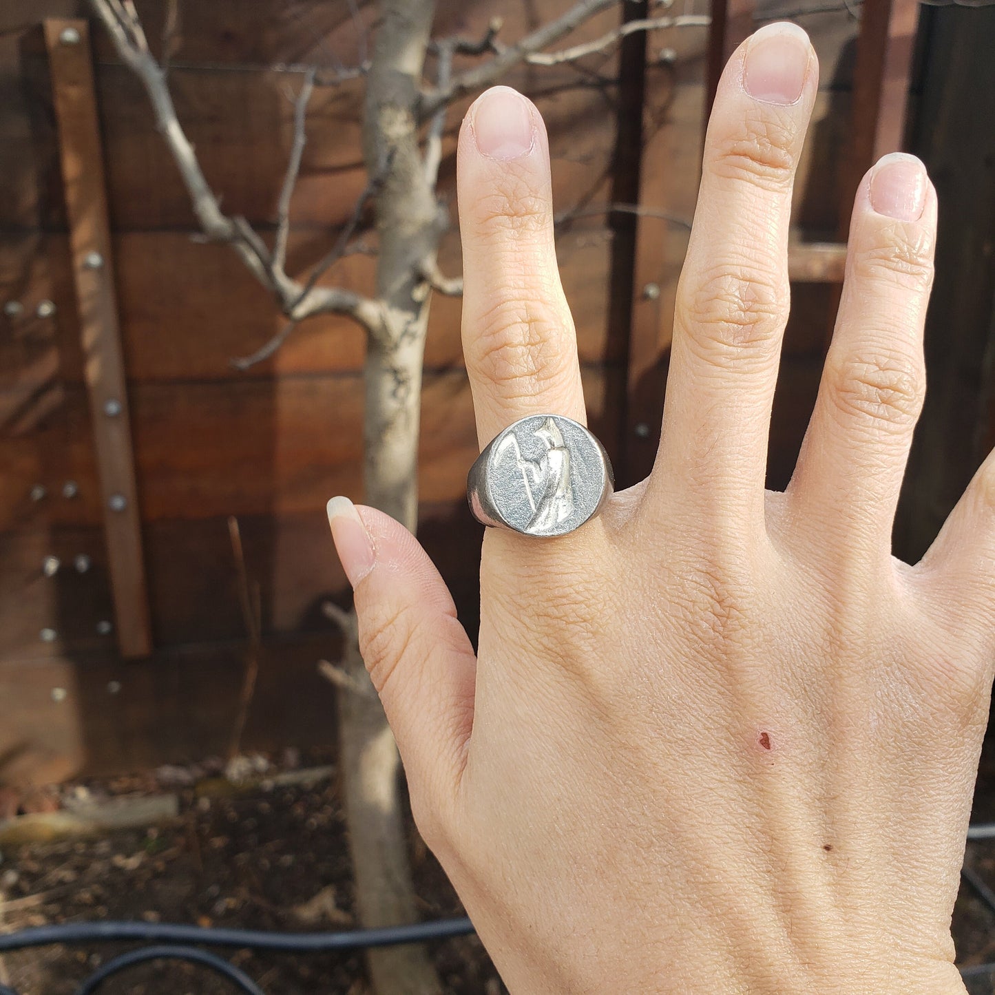
<svg viewBox="0 0 995 995"><path fill-rule="evenodd" d="M790 188L795 171L797 127L790 117L751 114L715 143L712 171L745 180L771 193Z"/></svg>

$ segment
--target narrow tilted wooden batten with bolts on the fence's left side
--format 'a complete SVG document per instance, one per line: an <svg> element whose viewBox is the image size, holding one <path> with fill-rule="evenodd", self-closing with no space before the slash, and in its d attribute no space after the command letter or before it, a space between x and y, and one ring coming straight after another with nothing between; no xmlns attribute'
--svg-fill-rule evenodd
<svg viewBox="0 0 995 995"><path fill-rule="evenodd" d="M122 656L144 657L152 648L151 627L88 24L84 20L47 20L45 44L59 131L117 642Z"/></svg>

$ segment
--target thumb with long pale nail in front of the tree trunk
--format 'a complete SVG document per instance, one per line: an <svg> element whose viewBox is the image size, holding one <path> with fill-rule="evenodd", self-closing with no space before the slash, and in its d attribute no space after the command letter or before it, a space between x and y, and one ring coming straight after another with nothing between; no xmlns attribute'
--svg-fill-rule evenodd
<svg viewBox="0 0 995 995"><path fill-rule="evenodd" d="M332 497L328 523L354 591L359 650L408 776L416 791L451 796L463 773L477 679L453 598L418 540L389 515Z"/></svg>

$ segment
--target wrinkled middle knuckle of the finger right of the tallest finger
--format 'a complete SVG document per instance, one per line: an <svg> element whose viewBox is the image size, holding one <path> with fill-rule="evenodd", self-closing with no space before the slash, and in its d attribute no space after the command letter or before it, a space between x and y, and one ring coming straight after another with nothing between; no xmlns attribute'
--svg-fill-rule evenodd
<svg viewBox="0 0 995 995"><path fill-rule="evenodd" d="M921 360L896 353L857 353L830 371L830 396L847 418L905 429L925 395Z"/></svg>

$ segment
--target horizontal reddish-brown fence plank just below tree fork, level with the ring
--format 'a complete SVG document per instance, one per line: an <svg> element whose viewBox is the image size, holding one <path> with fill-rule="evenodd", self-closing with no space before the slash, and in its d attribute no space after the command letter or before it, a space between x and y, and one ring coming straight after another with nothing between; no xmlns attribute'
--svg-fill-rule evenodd
<svg viewBox="0 0 995 995"><path fill-rule="evenodd" d="M611 445L624 372L586 367L582 380L594 430ZM51 431L0 437L0 532L100 522L93 471L88 475L83 455L75 452L85 449L79 426L86 422L86 400L79 390L67 390L63 398ZM135 386L131 413L142 520L312 511L333 494L359 496L362 404L358 374ZM66 424L78 428L60 428ZM477 453L466 374L430 374L419 449L422 498L464 497ZM31 501L39 480L61 482L71 464L79 471L78 497L50 494ZM58 474L47 472L53 465Z"/></svg>

